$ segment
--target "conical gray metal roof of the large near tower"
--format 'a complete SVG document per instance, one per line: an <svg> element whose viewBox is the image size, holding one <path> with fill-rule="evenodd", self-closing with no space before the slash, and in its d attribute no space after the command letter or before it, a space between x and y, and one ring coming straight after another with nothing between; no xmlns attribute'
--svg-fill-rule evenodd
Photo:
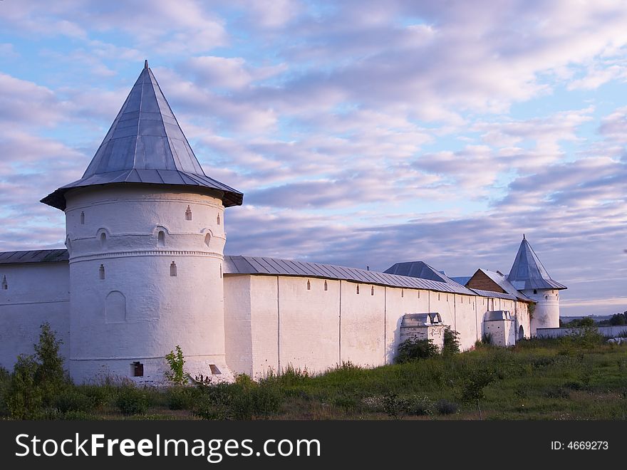
<svg viewBox="0 0 627 470"><path fill-rule="evenodd" d="M204 174L147 62L83 177L41 202L65 210L69 189L114 183L217 189L225 207L242 204L244 197Z"/></svg>

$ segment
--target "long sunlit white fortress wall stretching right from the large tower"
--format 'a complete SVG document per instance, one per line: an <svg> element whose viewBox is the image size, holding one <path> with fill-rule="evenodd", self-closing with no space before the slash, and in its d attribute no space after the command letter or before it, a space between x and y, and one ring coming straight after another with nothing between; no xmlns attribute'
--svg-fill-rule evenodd
<svg viewBox="0 0 627 470"><path fill-rule="evenodd" d="M467 350L482 337L487 305L514 311L514 301L499 298L305 276L228 275L224 284L227 360L253 377L289 365L318 373L346 361L389 364L406 313L440 313Z"/></svg>

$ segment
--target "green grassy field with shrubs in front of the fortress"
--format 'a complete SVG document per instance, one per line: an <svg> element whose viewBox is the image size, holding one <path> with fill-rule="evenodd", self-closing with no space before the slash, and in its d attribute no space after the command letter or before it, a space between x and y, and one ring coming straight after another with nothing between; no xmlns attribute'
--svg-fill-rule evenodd
<svg viewBox="0 0 627 470"><path fill-rule="evenodd" d="M63 383L30 396L19 389L28 377L14 376L0 377L3 419L627 419L627 346L594 338L480 346L375 369L344 364L316 377L240 376L231 385Z"/></svg>

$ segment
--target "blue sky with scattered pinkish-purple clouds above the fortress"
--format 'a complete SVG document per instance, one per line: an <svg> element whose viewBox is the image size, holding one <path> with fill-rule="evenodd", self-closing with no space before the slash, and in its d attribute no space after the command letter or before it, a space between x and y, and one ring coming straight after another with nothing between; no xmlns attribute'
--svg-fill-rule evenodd
<svg viewBox="0 0 627 470"><path fill-rule="evenodd" d="M0 251L63 248L144 59L209 176L226 254L508 273L627 310L623 1L0 1Z"/></svg>

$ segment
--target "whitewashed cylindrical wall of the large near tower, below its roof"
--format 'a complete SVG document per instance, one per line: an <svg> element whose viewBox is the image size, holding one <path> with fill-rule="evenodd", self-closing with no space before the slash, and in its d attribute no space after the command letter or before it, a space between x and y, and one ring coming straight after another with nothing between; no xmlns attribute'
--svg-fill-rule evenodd
<svg viewBox="0 0 627 470"><path fill-rule="evenodd" d="M215 365L229 377L220 199L154 186L74 189L66 199L72 377L160 382L176 345L192 375Z"/></svg>

